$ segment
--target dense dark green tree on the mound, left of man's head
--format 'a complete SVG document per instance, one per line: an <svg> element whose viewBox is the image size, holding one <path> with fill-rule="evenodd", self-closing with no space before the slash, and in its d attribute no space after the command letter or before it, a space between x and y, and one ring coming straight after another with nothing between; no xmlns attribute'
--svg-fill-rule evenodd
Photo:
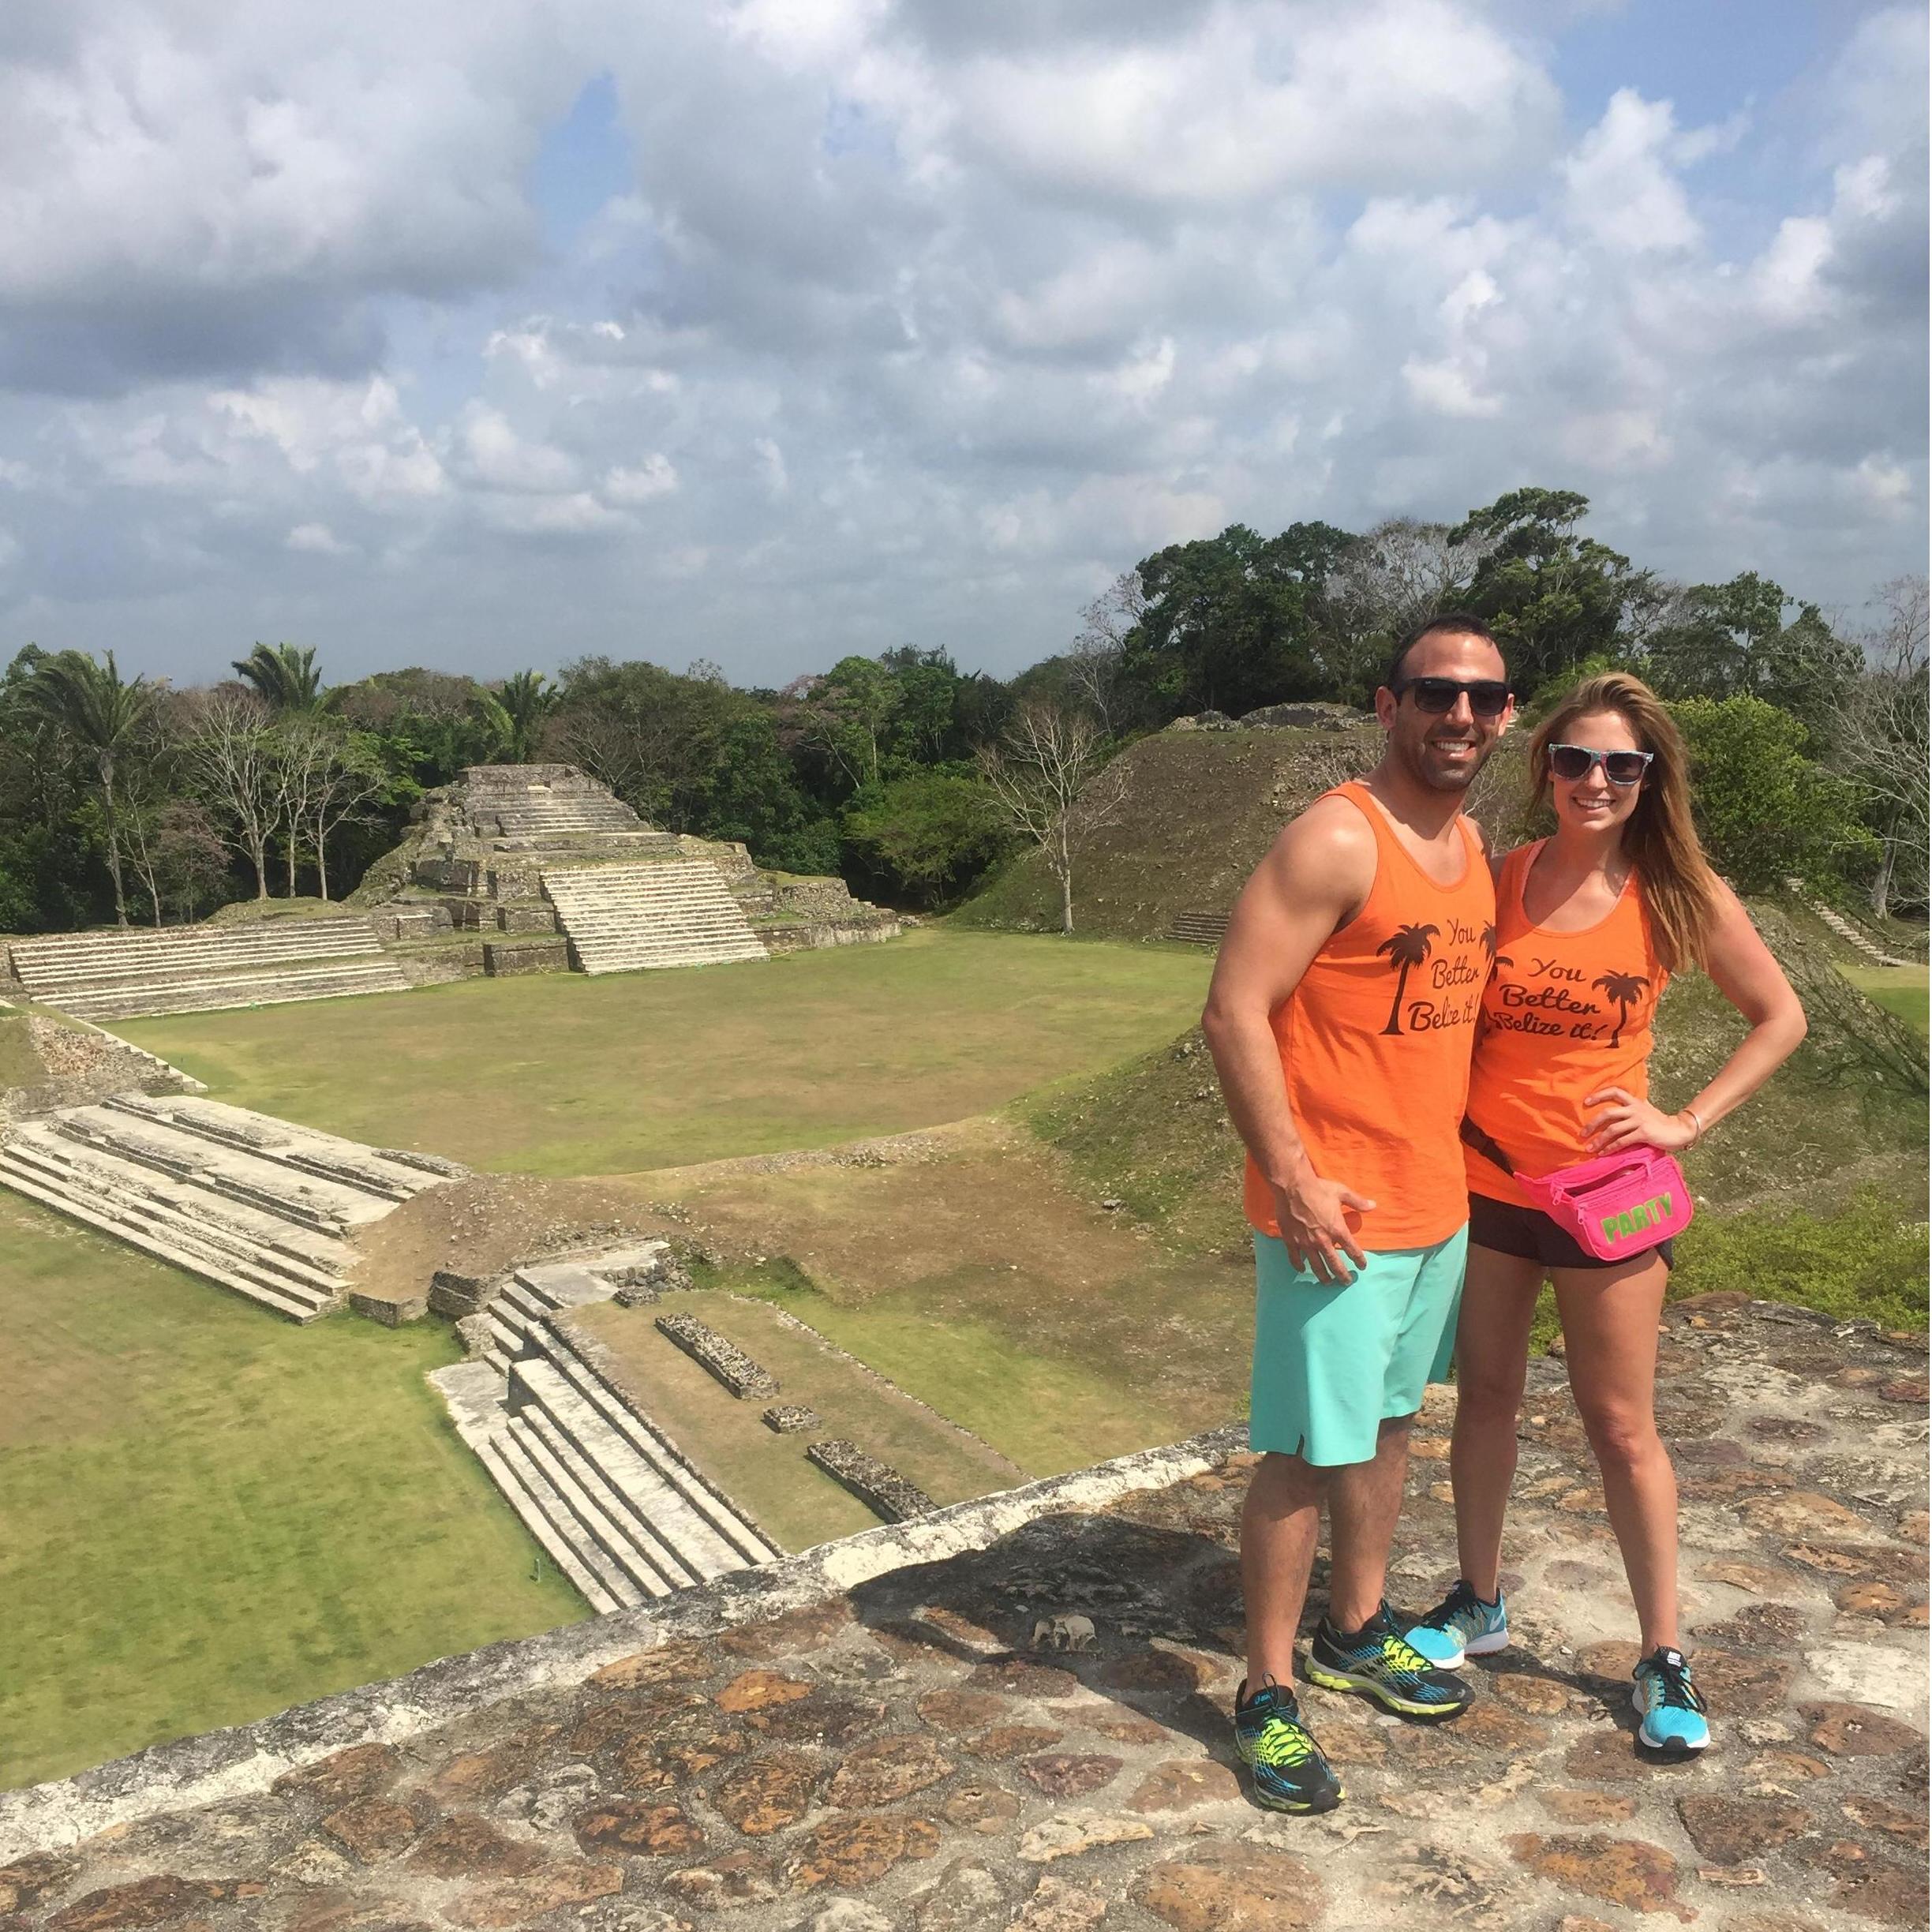
<svg viewBox="0 0 1932 1932"><path fill-rule="evenodd" d="M1144 558L1148 601L1122 655L1128 684L1161 719L1325 696L1312 607L1350 541L1331 524L1291 524L1279 537L1231 524Z"/></svg>

